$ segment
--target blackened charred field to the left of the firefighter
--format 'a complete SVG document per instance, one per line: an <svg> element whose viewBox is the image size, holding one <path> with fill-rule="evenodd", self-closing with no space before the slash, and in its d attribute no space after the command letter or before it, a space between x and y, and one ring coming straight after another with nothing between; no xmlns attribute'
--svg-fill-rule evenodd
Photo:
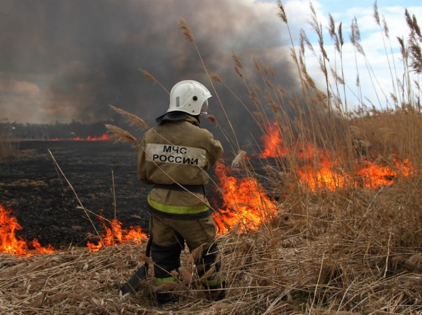
<svg viewBox="0 0 422 315"><path fill-rule="evenodd" d="M42 246L51 244L56 249L83 247L95 229L100 233L103 229L97 215L102 212L105 219L114 218L114 195L116 218L122 226L141 226L146 231L149 188L138 180L133 148L113 141L20 141L14 145L18 156L0 162L0 204L12 210L22 227L17 236L37 238ZM78 198L87 212L78 207Z"/></svg>

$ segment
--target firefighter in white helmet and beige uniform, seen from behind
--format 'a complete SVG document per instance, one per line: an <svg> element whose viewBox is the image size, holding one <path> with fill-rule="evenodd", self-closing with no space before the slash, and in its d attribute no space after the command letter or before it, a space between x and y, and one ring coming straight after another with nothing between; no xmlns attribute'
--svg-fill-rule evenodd
<svg viewBox="0 0 422 315"><path fill-rule="evenodd" d="M142 137L138 176L142 183L153 185L147 202L155 284L178 281L172 271L180 267L186 242L190 252L201 252L195 261L198 275L207 297L216 301L225 297L225 281L204 185L209 182L207 170L223 148L210 131L200 128L210 97L209 90L193 80L172 88L167 112ZM158 290L156 297L159 305L178 300L168 291Z"/></svg>

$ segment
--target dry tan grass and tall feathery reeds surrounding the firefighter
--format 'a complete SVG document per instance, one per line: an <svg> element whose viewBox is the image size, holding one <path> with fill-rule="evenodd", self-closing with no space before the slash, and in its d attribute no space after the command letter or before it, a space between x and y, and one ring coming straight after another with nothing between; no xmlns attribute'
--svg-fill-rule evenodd
<svg viewBox="0 0 422 315"><path fill-rule="evenodd" d="M278 6L281 21L288 27L281 1ZM376 5L374 9L377 10ZM379 15L374 16L378 16L380 24ZM407 16L415 36L416 19ZM419 102L410 97L417 93L413 93L410 82L393 78L397 90L392 92L390 108L394 111L368 110L363 96L357 93L361 107L354 114L349 113L342 69L332 67L326 58L316 16L311 23L320 38L319 47L312 49L321 56L324 91L316 87L306 71L304 50L305 46L310 48L310 43L305 34L301 36L297 55L292 48L302 84L302 94L294 97L277 83L272 68L256 59L255 68L265 87L254 84L248 77L250 72L232 53L235 71L250 95L253 106L250 113L263 126L264 134L274 131L265 126L277 122L283 143L295 150L275 158L275 163L265 168L273 191L281 196L277 204L279 215L257 231L237 233L234 228L218 239L227 279L226 299L219 302L204 299L188 252L182 254L178 271L181 283L173 288L182 297L179 303L163 308L154 305L152 272L139 294L119 297L119 286L145 259L144 246L120 245L98 253L70 248L24 259L3 255L0 311L128 315L421 314L422 120ZM187 22L180 19L179 24L181 33L199 53ZM342 60L341 25L336 27L332 20L330 28L336 53ZM388 33L386 25L384 30ZM352 23L352 41L356 54L362 53L356 20ZM404 40L402 44L406 54ZM412 44L419 45L415 41ZM416 46L411 49L417 52ZM416 59L413 62L418 65ZM207 71L205 64L204 69ZM224 82L211 71L207 73L211 85L211 80ZM335 83L331 82L330 73ZM155 78L144 74L156 83ZM223 132L233 146L233 165L255 178L251 165L243 163L245 152L237 145L230 123L229 130L234 138L228 136L230 132ZM311 144L337 168L353 174L357 167L355 139L368 144L374 161L388 163L394 156L406 160L413 171L381 189L350 186L311 191L299 183L298 170L305 162L297 158L300 144ZM319 165L321 155L311 156L306 162Z"/></svg>

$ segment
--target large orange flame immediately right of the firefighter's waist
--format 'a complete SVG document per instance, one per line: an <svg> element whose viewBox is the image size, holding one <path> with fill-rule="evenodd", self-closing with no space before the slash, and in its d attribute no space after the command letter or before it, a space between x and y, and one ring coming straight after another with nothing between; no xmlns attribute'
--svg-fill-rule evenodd
<svg viewBox="0 0 422 315"><path fill-rule="evenodd" d="M223 206L213 212L218 235L236 225L240 231L255 230L276 215L277 207L256 180L229 176L229 167L221 163L216 164L215 174L224 193Z"/></svg>

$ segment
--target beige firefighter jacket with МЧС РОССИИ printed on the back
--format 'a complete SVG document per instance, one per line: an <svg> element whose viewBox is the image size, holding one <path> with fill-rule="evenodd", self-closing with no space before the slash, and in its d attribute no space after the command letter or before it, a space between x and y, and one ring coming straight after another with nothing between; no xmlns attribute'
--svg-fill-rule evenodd
<svg viewBox="0 0 422 315"><path fill-rule="evenodd" d="M204 185L209 170L223 153L212 133L199 127L192 116L179 122L165 122L146 131L138 152L138 176L145 184ZM198 214L209 209L200 193L152 189L148 203L171 214Z"/></svg>

